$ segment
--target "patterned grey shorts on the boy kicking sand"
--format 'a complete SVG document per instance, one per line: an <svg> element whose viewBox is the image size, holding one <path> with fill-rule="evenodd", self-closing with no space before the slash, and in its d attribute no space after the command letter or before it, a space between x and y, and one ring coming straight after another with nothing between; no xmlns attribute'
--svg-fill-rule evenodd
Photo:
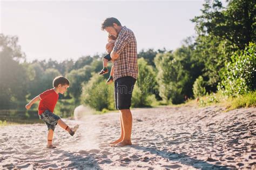
<svg viewBox="0 0 256 170"><path fill-rule="evenodd" d="M60 117L49 110L44 111L41 115L39 115L39 118L44 121L44 123L47 125L48 130L55 130L55 127L57 125L57 121L60 119Z"/></svg>

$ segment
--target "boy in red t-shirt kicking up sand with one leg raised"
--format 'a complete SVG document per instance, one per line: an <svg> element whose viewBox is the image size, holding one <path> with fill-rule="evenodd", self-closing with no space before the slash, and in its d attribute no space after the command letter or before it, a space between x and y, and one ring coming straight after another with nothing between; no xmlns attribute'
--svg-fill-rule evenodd
<svg viewBox="0 0 256 170"><path fill-rule="evenodd" d="M53 131L57 124L60 127L64 128L64 130L68 131L71 136L75 134L79 125L76 125L73 128L70 128L68 125L58 117L58 115L53 113L57 100L59 98L59 94L64 94L69 87L69 80L63 76L58 76L53 80L53 89L46 90L45 92L39 94L37 97L33 98L25 107L27 110L36 103L36 101L40 100L38 106L38 115L41 120L48 127L48 143L47 148L56 148L52 146L52 138Z"/></svg>

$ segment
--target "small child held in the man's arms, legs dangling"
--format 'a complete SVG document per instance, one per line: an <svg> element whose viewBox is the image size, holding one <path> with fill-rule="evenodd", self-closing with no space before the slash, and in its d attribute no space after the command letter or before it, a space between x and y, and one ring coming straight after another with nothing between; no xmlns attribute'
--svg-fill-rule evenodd
<svg viewBox="0 0 256 170"><path fill-rule="evenodd" d="M113 50L115 42L116 42L116 37L109 35L108 43L106 44L106 51L108 54L103 57L103 69L100 71L99 74L106 74L109 72L109 70L107 69L107 62L111 60L110 53ZM106 84L111 84L113 82L113 71L114 71L114 66L112 65L111 71L110 71L110 77L109 79L107 79Z"/></svg>

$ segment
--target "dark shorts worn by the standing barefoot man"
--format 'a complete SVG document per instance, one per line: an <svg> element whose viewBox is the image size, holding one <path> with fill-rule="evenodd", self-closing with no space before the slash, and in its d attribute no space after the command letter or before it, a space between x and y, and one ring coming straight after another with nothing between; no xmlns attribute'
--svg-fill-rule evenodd
<svg viewBox="0 0 256 170"><path fill-rule="evenodd" d="M117 110L131 107L132 91L136 79L130 76L118 78L114 81L114 103Z"/></svg>

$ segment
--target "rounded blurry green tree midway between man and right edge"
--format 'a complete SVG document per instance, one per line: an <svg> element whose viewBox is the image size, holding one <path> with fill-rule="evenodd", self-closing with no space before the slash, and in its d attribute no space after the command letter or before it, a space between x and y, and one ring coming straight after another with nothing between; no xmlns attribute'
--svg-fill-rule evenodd
<svg viewBox="0 0 256 170"><path fill-rule="evenodd" d="M166 103L179 104L185 96L193 97L193 83L204 65L194 54L190 38L174 52L159 53L154 62L160 96Z"/></svg>

